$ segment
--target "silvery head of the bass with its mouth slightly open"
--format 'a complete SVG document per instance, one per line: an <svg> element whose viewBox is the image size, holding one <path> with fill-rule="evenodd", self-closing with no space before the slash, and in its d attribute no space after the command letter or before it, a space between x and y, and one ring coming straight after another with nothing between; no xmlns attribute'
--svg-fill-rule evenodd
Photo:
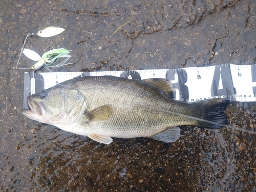
<svg viewBox="0 0 256 192"><path fill-rule="evenodd" d="M61 86L28 96L27 100L30 110L22 111L26 117L58 127L69 125L86 109L80 91Z"/></svg>

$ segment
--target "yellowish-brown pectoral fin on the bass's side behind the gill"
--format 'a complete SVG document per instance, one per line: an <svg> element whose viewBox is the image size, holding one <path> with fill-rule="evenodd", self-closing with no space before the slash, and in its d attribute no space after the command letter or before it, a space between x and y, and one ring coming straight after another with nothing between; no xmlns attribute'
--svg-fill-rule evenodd
<svg viewBox="0 0 256 192"><path fill-rule="evenodd" d="M113 108L110 105L99 106L86 113L85 115L89 119L87 122L99 122L108 120L113 114Z"/></svg>

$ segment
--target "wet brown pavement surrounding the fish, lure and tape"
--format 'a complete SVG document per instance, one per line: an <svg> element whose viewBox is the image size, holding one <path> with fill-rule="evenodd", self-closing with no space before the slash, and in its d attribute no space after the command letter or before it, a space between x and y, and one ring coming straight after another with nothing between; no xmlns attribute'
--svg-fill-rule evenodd
<svg viewBox="0 0 256 192"><path fill-rule="evenodd" d="M255 134L182 126L174 143L114 139L110 145L20 114L25 48L72 51L52 71L169 69L256 60L255 1L2 1L0 188L2 191L256 191ZM112 33L129 22L112 38ZM22 56L19 67L31 67ZM42 68L40 72L46 71ZM255 103L231 103L233 126L255 130Z"/></svg>

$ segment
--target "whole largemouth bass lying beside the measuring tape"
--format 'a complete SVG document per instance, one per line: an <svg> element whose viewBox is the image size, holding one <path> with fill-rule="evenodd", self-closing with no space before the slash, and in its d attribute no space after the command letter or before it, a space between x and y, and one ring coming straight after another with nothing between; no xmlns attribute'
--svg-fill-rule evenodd
<svg viewBox="0 0 256 192"><path fill-rule="evenodd" d="M80 77L29 96L31 110L23 114L107 144L111 137L173 142L180 135L178 125L225 126L228 99L185 103L172 99L173 91L163 78Z"/></svg>

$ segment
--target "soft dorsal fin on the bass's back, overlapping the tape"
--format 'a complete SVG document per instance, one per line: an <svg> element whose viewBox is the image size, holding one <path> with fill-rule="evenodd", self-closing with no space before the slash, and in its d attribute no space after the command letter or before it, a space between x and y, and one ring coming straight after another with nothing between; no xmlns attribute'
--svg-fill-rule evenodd
<svg viewBox="0 0 256 192"><path fill-rule="evenodd" d="M160 89L165 96L174 98L175 97L175 89L173 87L173 83L164 79L164 78L151 78L151 79L143 79L148 84L152 84L156 88Z"/></svg>

